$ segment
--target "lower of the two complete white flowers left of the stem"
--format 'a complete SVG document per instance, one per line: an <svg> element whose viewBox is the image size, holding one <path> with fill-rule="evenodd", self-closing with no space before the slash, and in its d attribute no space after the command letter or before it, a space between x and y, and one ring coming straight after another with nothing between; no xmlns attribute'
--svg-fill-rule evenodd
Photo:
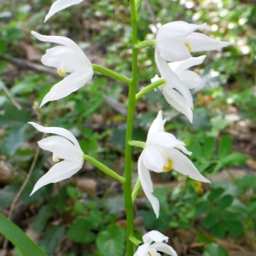
<svg viewBox="0 0 256 256"><path fill-rule="evenodd" d="M57 136L46 137L38 142L40 148L53 153L53 160L57 164L51 167L49 171L38 180L32 190L32 195L38 189L49 183L57 183L79 172L84 164L84 153L77 139L70 131L59 127L44 127L33 122L29 122L29 124L34 126L38 131L57 134ZM59 162L59 160L62 161Z"/></svg>

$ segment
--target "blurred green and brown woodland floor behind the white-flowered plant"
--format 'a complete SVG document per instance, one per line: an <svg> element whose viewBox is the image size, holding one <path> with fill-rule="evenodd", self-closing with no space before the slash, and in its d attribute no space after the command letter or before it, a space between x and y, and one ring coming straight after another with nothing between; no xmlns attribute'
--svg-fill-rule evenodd
<svg viewBox="0 0 256 256"><path fill-rule="evenodd" d="M49 255L124 255L125 207L121 185L89 163L74 177L29 196L54 163L37 151L42 134L28 121L61 126L79 138L85 154L124 172L127 85L98 73L79 91L38 108L61 80L40 59L50 44L31 31L72 38L90 61L131 76L129 3L89 1L62 10L44 24L52 1L0 0L0 212L9 216ZM256 3L254 0L143 0L138 38L152 39L173 20L207 23L205 34L232 43L207 55L193 70L203 78L193 90L194 124L170 107L160 90L137 102L134 140L145 141L163 109L166 131L193 151L191 160L212 183L177 172L151 173L160 218L140 191L136 236L159 230L179 256L256 255ZM154 49L139 53L138 90L158 73ZM137 159L133 148L133 178ZM36 155L36 156L35 156ZM33 165L32 165L33 163ZM20 191L28 172L32 175ZM19 200L12 205L18 192ZM10 207L11 212L10 212ZM0 236L0 255L20 255Z"/></svg>

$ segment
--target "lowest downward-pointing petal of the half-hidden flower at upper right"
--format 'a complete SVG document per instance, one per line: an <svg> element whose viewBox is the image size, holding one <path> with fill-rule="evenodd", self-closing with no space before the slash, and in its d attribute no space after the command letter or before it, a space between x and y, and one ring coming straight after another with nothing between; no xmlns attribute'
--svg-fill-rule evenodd
<svg viewBox="0 0 256 256"><path fill-rule="evenodd" d="M163 86L163 95L166 98L166 101L172 105L173 108L176 108L177 111L183 113L187 119L189 119L189 122L193 122L193 112L191 110L191 107L189 105L189 102L186 101L186 99L177 92L177 90L173 90L172 88L167 87L168 84Z"/></svg>

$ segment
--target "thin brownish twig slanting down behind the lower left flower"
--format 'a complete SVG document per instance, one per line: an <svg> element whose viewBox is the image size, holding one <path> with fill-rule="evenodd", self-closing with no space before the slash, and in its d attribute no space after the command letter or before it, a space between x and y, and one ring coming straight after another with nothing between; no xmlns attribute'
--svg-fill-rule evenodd
<svg viewBox="0 0 256 256"><path fill-rule="evenodd" d="M42 139L43 139L44 137L45 137L45 133L43 134ZM28 181L29 181L29 178L30 178L31 175L32 175L32 171L33 171L33 169L34 169L34 167L35 167L35 165L36 165L36 163L37 163L37 161L38 161L39 152L40 152L40 148L38 147L38 148L37 148L37 151L36 151L36 154L35 154L35 156L34 156L34 159L33 159L33 161L32 161L32 165L31 165L31 167L30 167L30 169L29 169L29 172L27 173L26 179L25 179L24 183L22 184L22 186L21 186L19 192L18 192L17 195L15 196L15 200L12 202L12 205L11 205L11 207L10 207L10 209L9 209L9 214L8 214L8 218L9 218L9 219L11 219L12 213L13 213L14 210L15 210L15 205L16 205L17 201L19 200L21 193L22 193L23 190L25 189L26 184L27 184ZM4 240L4 242L3 242L3 249L6 249L7 246L8 246L8 240L5 238L5 240Z"/></svg>

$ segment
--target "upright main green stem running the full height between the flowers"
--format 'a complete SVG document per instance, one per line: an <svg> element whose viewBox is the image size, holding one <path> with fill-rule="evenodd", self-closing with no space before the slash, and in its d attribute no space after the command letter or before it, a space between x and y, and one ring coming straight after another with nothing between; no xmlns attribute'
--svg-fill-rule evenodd
<svg viewBox="0 0 256 256"><path fill-rule="evenodd" d="M128 115L126 123L126 137L125 137L125 183L124 183L124 194L125 194L125 208L126 208L126 256L133 255L133 244L130 237L133 237L133 205L131 200L131 145L129 142L132 137L133 119L135 112L136 103L136 92L137 92L137 18L135 0L130 0L131 7L131 29L132 29L132 77L129 88L128 96Z"/></svg>

